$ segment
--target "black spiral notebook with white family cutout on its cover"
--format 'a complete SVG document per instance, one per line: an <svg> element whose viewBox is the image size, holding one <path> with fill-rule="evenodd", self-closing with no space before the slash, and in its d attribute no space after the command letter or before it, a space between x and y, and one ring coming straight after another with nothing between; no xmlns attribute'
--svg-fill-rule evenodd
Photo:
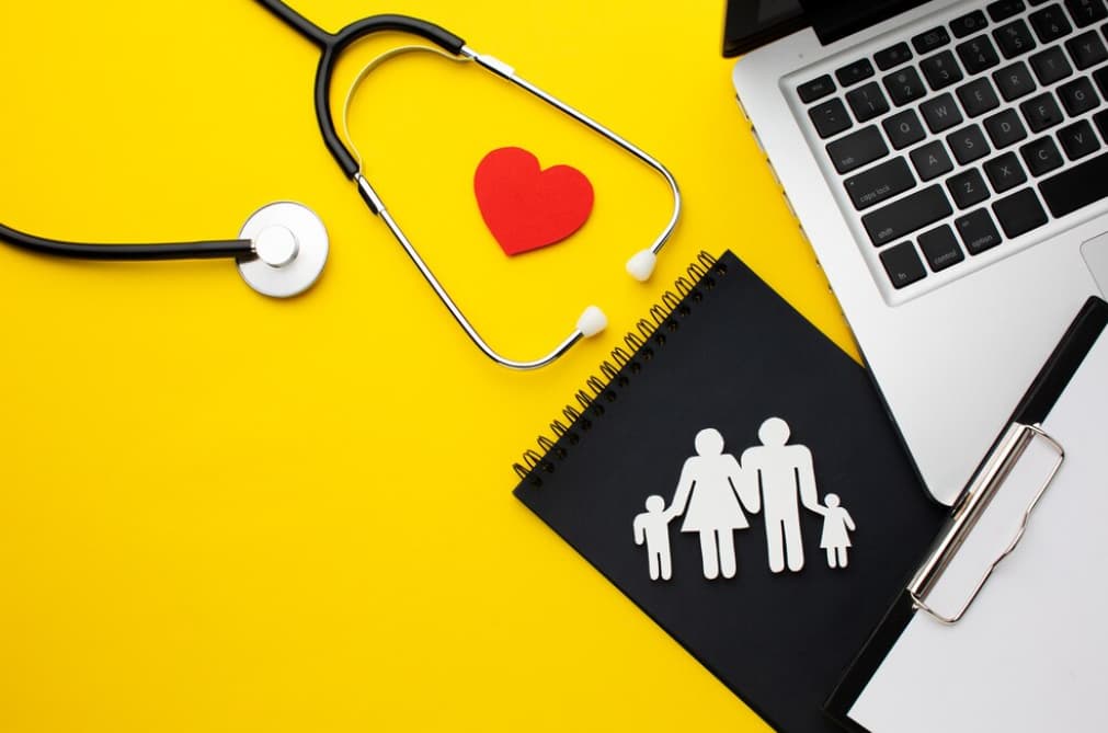
<svg viewBox="0 0 1108 733"><path fill-rule="evenodd" d="M761 715L823 704L944 518L866 372L708 255L516 466L515 495Z"/></svg>

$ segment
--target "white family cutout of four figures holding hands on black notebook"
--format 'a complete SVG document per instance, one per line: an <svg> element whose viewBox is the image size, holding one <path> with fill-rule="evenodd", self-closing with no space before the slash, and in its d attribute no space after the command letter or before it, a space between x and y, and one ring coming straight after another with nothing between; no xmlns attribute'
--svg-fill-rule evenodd
<svg viewBox="0 0 1108 733"><path fill-rule="evenodd" d="M653 495L646 512L635 517L635 544L646 545L652 580L673 577L669 553L669 523L681 515L681 531L700 535L704 577L733 578L738 572L735 530L748 529L747 515L761 512L766 546L772 572L797 572L804 567L800 529L800 507L823 517L820 547L827 550L828 567L847 567L853 518L835 494L820 504L815 489L812 454L803 445L788 445L789 424L770 417L758 429L761 445L742 452L741 462L724 453L724 436L706 427L694 441L697 454L685 461L674 500Z"/></svg>

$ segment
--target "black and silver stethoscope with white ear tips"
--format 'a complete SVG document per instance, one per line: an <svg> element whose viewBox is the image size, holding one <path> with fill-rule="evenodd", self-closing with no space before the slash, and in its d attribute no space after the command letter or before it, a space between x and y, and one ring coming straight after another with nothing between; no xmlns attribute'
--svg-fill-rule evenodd
<svg viewBox="0 0 1108 733"><path fill-rule="evenodd" d="M511 369L537 369L550 364L577 341L595 335L604 330L606 318L598 308L589 306L577 320L573 332L562 343L545 357L531 361L506 359L497 353L478 333L476 329L450 297L435 278L416 247L400 229L396 219L389 214L380 195L362 174L362 166L352 145L342 141L335 126L330 111L331 76L342 52L357 41L373 33L393 31L417 35L434 43L441 51L424 45L411 45L396 49L367 65L353 82L343 105L343 130L349 112L350 99L355 89L361 83L369 71L388 58L407 51L434 51L449 59L468 62L474 61L493 74L520 86L561 112L573 117L581 124L599 133L619 147L624 148L639 161L657 171L669 185L674 196L674 210L661 234L647 249L637 252L627 261L627 271L640 281L645 281L654 271L658 251L669 239L680 215L681 198L677 182L656 159L632 145L611 130L585 116L570 105L547 94L537 86L516 75L515 70L499 59L481 54L465 45L465 42L453 33L423 20L407 16L372 16L355 21L338 31L328 33L304 16L299 14L281 0L256 0L277 18L283 20L300 35L315 43L320 50L319 66L316 71L315 106L316 118L324 143L331 152L342 173L358 187L358 193L366 202L369 210L378 216L396 237L400 246L419 268L423 278L450 310L458 323L482 352L499 364ZM346 135L349 140L349 134ZM170 259L207 259L233 258L238 266L239 275L256 291L274 298L289 298L310 288L327 262L328 235L322 221L311 209L293 202L270 204L255 211L243 225L238 239L206 240L192 242L109 245L60 241L45 239L18 231L0 224L0 239L11 245L33 252L55 255L71 258L101 260L170 260Z"/></svg>

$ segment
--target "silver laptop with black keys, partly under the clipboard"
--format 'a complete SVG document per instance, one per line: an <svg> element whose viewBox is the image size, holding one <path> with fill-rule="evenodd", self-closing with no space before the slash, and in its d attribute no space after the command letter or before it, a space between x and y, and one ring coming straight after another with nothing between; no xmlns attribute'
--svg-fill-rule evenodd
<svg viewBox="0 0 1108 733"><path fill-rule="evenodd" d="M1105 0L729 3L740 105L945 504L1108 288L1106 31Z"/></svg>

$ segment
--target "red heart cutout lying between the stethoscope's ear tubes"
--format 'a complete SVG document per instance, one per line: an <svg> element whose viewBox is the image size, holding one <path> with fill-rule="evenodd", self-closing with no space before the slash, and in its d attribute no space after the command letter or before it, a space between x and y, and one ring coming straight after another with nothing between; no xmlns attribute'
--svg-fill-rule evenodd
<svg viewBox="0 0 1108 733"><path fill-rule="evenodd" d="M593 211L593 185L581 171L555 165L543 171L522 147L484 156L473 175L478 207L505 255L562 241Z"/></svg>

